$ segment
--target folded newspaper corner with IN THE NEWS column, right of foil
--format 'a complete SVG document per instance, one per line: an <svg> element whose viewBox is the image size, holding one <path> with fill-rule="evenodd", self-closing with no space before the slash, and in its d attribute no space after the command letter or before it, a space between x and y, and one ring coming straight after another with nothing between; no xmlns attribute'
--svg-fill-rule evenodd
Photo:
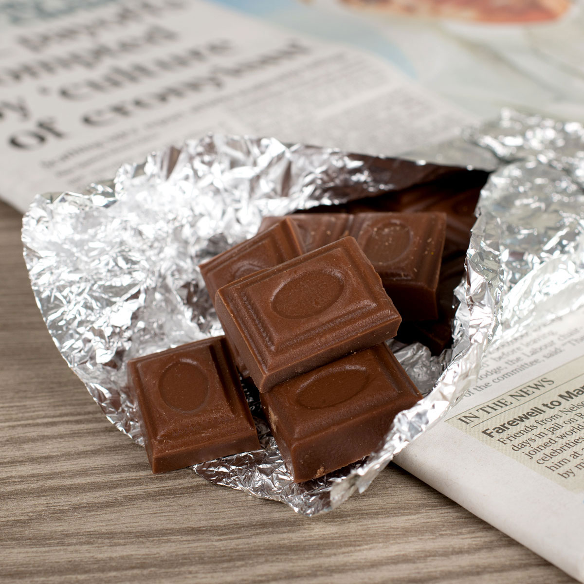
<svg viewBox="0 0 584 584"><path fill-rule="evenodd" d="M584 582L584 310L489 346L397 464Z"/></svg>

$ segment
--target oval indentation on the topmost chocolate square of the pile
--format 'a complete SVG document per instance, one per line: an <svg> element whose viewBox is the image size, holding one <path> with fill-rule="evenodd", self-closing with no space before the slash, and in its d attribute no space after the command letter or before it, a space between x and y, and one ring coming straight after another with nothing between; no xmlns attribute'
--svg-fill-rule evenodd
<svg viewBox="0 0 584 584"><path fill-rule="evenodd" d="M287 281L272 298L272 310L284 318L315 317L339 300L343 288L338 276L314 270Z"/></svg>

